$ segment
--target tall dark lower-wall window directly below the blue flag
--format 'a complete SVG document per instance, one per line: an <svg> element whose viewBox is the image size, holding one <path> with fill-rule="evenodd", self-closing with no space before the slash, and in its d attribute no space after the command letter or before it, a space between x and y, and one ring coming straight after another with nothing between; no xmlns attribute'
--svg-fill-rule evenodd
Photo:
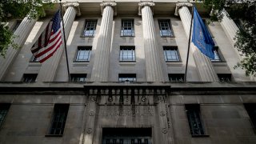
<svg viewBox="0 0 256 144"><path fill-rule="evenodd" d="M202 126L202 118L200 114L200 106L198 104L187 104L186 116L190 125L190 133L192 136L206 135Z"/></svg>

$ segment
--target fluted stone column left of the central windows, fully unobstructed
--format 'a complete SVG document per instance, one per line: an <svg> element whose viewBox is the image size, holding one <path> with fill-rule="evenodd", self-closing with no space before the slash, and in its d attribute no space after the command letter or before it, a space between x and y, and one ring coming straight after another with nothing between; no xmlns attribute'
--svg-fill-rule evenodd
<svg viewBox="0 0 256 144"><path fill-rule="evenodd" d="M91 72L91 82L107 82L115 2L102 2L102 22Z"/></svg>

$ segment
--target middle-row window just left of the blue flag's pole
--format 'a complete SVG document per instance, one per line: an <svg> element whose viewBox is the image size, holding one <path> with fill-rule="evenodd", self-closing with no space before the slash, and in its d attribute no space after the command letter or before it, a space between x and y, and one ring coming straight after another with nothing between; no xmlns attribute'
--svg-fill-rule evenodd
<svg viewBox="0 0 256 144"><path fill-rule="evenodd" d="M163 46L163 52L165 55L166 62L177 62L180 61L178 54L178 47L176 46Z"/></svg>

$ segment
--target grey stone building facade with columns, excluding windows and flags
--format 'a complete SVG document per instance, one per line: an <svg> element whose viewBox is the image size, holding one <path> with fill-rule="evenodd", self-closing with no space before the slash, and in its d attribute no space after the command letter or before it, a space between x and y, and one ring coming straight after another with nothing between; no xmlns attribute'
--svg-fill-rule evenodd
<svg viewBox="0 0 256 144"><path fill-rule="evenodd" d="M24 18L14 32L22 33L22 49L10 48L0 61L0 108L10 104L0 143L105 144L114 137L118 143L141 138L145 144L145 139L161 144L256 142L254 120L245 107L256 102L256 83L244 70L233 69L241 58L231 41L238 30L232 19L207 25L222 61L212 62L192 46L187 82L169 82L170 74L185 73L190 3L80 0L63 6L70 74L86 74L86 82L68 82L63 46L42 64L30 62L31 46L57 9L46 10L46 18L36 22ZM198 11L210 21L207 10ZM134 36L121 36L126 19L134 22ZM91 37L82 35L86 20L97 20ZM159 20L170 22L173 36L162 37ZM91 46L89 61L76 61L78 46ZM122 46L134 46L135 61L120 61ZM163 46L177 47L180 60L166 61ZM28 83L22 82L24 74L38 75ZM119 74L136 74L136 81L119 82ZM222 82L218 74L230 74L231 82ZM65 129L50 134L58 104L68 104ZM191 105L199 107L203 134L191 132Z"/></svg>

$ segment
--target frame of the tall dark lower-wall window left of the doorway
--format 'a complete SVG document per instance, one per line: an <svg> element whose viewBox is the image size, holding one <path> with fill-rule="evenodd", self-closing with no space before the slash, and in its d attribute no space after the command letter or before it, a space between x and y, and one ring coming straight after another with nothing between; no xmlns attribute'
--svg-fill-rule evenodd
<svg viewBox="0 0 256 144"><path fill-rule="evenodd" d="M62 122L61 128L56 128L56 129L61 129L60 134L52 134L57 109L58 110L62 109L63 110L62 112L65 112L64 119L63 119L64 122ZM46 137L62 137L64 135L65 126L66 126L66 119L67 119L67 116L68 116L69 109L70 109L70 104L64 104L64 103L54 104L54 110L53 110L53 113L52 113L52 116L51 116L51 119L50 119L50 126L47 130ZM56 122L58 123L59 121L56 121Z"/></svg>

